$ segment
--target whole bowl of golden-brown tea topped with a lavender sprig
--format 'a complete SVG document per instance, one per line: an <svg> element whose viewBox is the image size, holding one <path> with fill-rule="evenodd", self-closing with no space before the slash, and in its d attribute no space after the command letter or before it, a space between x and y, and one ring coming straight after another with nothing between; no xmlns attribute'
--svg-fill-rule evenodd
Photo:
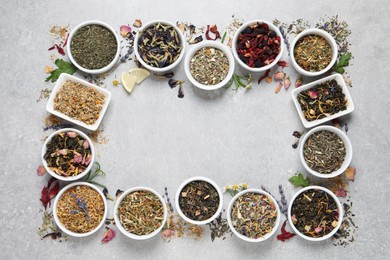
<svg viewBox="0 0 390 260"><path fill-rule="evenodd" d="M55 223L73 237L94 234L103 226L107 213L107 200L103 193L88 182L65 186L54 200Z"/></svg>

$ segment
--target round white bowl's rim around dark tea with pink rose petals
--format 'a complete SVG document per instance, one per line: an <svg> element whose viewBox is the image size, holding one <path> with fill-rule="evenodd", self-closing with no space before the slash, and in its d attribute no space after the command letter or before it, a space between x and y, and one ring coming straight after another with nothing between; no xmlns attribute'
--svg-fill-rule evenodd
<svg viewBox="0 0 390 260"><path fill-rule="evenodd" d="M87 142L89 143L89 147L91 148L91 162L89 163L89 165L87 166L87 168L82 172L82 173L79 173L78 175L76 176L70 176L70 177L64 177L64 176L60 176L58 175L57 173L55 173L54 171L52 171L49 166L47 165L47 162L46 160L43 158L45 156L45 153L46 153L46 145L48 144L48 142L57 134L59 133L62 133L62 132L76 132L79 136L81 136L84 140L87 140ZM63 129L60 129L58 131L55 131L54 133L52 133L45 141L45 143L43 144L43 148L42 148L42 164L43 166L45 167L46 171L51 175L53 176L54 178L56 179L59 179L61 181L75 181L75 180L79 180L81 178L83 178L84 176L86 176L88 174L88 172L92 169L92 166L95 162L95 148L93 146L93 143L91 141L91 139L86 135L84 134L83 132L81 132L80 130L77 130L77 129L74 129L74 128L63 128Z"/></svg>

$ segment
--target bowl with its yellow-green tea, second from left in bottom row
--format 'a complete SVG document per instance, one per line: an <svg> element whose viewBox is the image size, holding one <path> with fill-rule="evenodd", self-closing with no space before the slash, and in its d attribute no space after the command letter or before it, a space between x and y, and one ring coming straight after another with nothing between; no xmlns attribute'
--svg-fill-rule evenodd
<svg viewBox="0 0 390 260"><path fill-rule="evenodd" d="M163 228L167 216L164 199L151 188L130 188L115 203L115 223L125 236L132 239L154 237Z"/></svg>

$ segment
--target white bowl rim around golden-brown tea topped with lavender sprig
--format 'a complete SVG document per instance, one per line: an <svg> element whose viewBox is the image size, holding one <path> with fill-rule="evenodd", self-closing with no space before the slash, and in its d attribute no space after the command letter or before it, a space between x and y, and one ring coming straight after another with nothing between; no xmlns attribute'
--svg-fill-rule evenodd
<svg viewBox="0 0 390 260"><path fill-rule="evenodd" d="M75 187L75 186L88 186L88 187L91 187L92 189L96 190L99 193L99 195L102 197L103 202L104 202L104 215L103 215L102 221L100 222L100 224L95 229L93 229L93 230L91 230L91 231L89 231L87 233L76 233L76 232L70 231L69 229L67 229L61 223L61 221L59 220L59 218L57 216L57 205L58 205L59 199L61 198L61 196L64 194L65 191L67 191L68 189L70 189L72 187ZM106 197L104 196L104 194L95 185L90 184L88 182L73 182L71 184L68 184L67 186L62 188L62 190L60 190L60 192L56 196L56 198L54 200L54 204L53 204L53 217L54 217L54 221L55 221L56 225L65 234L67 234L69 236L72 236L72 237L87 237L87 236L90 236L90 235L96 233L96 231L98 231L103 226L104 222L106 221L107 213L108 213L108 209L107 209L107 199L106 199Z"/></svg>

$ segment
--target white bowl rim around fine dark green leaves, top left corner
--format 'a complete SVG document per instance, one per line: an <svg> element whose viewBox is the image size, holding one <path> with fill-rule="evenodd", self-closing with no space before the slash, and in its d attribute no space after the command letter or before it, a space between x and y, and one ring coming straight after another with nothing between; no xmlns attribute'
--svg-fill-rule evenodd
<svg viewBox="0 0 390 260"><path fill-rule="evenodd" d="M86 69L86 68L83 68L81 67L77 62L76 60L73 58L72 56L72 50L71 50L71 43L72 43L72 38L74 36L74 34L81 28L81 27L84 27L84 26L87 26L87 25L100 25L104 28L107 28L109 31L112 32L112 34L115 36L115 39L116 39L116 44L117 44L117 50L116 50L116 54L115 54L115 57L114 59L105 67L101 68L101 69L96 69L96 70L91 70L91 69ZM104 23L104 22L101 22L101 21L97 21L97 20L90 20L90 21L85 21L83 23L80 23L79 25L77 25L72 31L71 33L69 34L69 38L68 38L68 45L66 46L67 48L67 51L68 51L68 55L69 55L69 59L70 61L79 69L81 70L82 72L85 72L85 73L88 73L88 74L102 74L102 73L105 73L107 71L109 71L110 69L112 69L115 64L118 62L119 60L119 55L120 55L120 50L121 50L121 44L120 44L120 39L119 39L119 36L118 34L115 32L115 30L109 26L108 24Z"/></svg>

